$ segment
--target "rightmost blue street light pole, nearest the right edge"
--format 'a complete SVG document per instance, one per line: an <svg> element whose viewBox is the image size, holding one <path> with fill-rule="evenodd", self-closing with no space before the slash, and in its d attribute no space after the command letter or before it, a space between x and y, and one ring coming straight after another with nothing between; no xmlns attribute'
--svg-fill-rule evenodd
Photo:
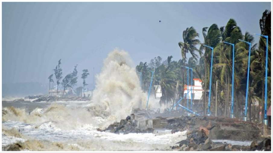
<svg viewBox="0 0 273 153"><path fill-rule="evenodd" d="M260 35L260 34L256 34L256 35ZM266 38L266 55L265 55L265 116L264 116L264 124L267 125L268 121L267 121L267 60L268 60L268 36L267 35L260 35L262 37Z"/></svg>

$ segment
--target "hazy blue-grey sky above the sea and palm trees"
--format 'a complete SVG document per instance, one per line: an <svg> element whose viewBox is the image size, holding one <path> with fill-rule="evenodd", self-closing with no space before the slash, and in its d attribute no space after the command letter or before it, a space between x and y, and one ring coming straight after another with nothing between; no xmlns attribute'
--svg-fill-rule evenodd
<svg viewBox="0 0 273 153"><path fill-rule="evenodd" d="M62 58L63 74L92 68L115 47L137 65L161 56L181 58L182 32L194 26L225 26L236 20L243 32L259 33L259 19L270 2L36 2L2 3L2 83L48 82ZM159 23L159 20L162 22ZM256 42L258 41L258 37ZM55 78L54 78L55 79Z"/></svg>

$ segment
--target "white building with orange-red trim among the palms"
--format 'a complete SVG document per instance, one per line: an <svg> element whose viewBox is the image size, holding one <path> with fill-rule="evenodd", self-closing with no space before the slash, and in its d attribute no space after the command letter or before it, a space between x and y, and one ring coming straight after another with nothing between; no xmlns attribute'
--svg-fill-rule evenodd
<svg viewBox="0 0 273 153"><path fill-rule="evenodd" d="M198 78L194 78L194 85L191 86L189 85L189 89L187 90L187 85L184 85L184 96L187 95L188 91L189 91L189 99L196 99L196 100L200 100L202 98L202 93L203 93L203 89L202 89L202 80L198 79ZM190 84L190 83L189 83ZM192 89L192 91L191 91ZM188 99L187 97L185 97L186 99Z"/></svg>

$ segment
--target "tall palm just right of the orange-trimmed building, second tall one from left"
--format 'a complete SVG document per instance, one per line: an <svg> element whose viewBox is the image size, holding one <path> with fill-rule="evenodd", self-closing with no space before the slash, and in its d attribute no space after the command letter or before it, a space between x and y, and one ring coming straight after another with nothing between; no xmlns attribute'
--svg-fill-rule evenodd
<svg viewBox="0 0 273 153"><path fill-rule="evenodd" d="M208 46L211 46L211 47L215 47L221 40L221 31L220 29L218 28L217 24L212 24L209 29L208 29L208 32L207 32L207 29L208 27L204 27L202 29L202 34L203 34L203 37L204 37L204 43L203 44L206 44ZM205 47L201 44L200 48L199 48L200 51L202 50L205 50L204 51L204 67L205 67L205 71L204 71L204 78L202 80L204 80L204 101L203 101L203 113L206 114L206 91L207 91L207 85L208 85L208 78L209 78L209 74L208 72L209 69L210 69L210 62L211 62L211 49L208 48L208 47ZM200 72L199 72L199 76L200 75Z"/></svg>

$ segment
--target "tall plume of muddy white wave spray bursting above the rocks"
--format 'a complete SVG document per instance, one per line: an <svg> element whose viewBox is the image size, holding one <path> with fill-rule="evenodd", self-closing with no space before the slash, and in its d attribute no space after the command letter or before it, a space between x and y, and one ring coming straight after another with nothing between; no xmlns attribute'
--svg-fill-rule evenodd
<svg viewBox="0 0 273 153"><path fill-rule="evenodd" d="M124 50L115 49L104 60L104 66L96 76L96 88L92 98L93 113L108 121L119 121L133 108L143 108L145 94L132 60Z"/></svg>

